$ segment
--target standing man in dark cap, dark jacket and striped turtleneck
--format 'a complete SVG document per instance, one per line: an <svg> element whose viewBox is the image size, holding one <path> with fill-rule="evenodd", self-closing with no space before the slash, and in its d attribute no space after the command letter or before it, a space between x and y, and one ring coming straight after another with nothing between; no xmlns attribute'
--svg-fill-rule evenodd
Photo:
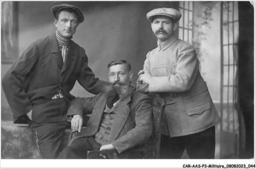
<svg viewBox="0 0 256 169"><path fill-rule="evenodd" d="M84 48L71 40L84 21L80 9L61 4L51 12L56 32L33 42L2 79L16 123L23 120L30 125L43 159L54 159L63 149L63 134L70 128L65 116L75 98L70 91L76 80L93 94L102 93L108 84L95 78ZM72 126L81 121L82 117L74 116Z"/></svg>

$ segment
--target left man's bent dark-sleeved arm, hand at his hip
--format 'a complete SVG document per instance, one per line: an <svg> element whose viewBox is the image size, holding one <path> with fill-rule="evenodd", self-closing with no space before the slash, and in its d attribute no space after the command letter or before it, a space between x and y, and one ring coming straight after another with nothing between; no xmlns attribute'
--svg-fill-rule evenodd
<svg viewBox="0 0 256 169"><path fill-rule="evenodd" d="M6 99L15 117L25 115L32 109L32 103L24 90L24 80L38 60L38 48L31 44L2 78Z"/></svg>

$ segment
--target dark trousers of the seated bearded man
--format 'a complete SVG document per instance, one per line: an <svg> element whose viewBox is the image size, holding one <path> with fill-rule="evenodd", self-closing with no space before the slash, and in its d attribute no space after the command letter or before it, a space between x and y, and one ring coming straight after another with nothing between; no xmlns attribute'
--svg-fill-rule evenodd
<svg viewBox="0 0 256 169"><path fill-rule="evenodd" d="M100 147L101 145L94 140L94 137L80 137L64 148L58 159L86 159L87 151L100 150Z"/></svg>

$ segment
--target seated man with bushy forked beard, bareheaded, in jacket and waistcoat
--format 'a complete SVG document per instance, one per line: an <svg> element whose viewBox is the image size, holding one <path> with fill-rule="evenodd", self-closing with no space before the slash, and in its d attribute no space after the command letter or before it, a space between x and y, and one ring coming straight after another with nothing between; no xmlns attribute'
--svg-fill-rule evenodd
<svg viewBox="0 0 256 169"><path fill-rule="evenodd" d="M130 64L125 60L110 62L108 73L111 85L105 87L104 93L71 101L67 119L72 119L72 130L78 129L78 133L58 158L85 159L91 150L116 149L123 153L139 147L152 135L150 98L130 85L133 76ZM91 117L82 129L82 117L86 114Z"/></svg>

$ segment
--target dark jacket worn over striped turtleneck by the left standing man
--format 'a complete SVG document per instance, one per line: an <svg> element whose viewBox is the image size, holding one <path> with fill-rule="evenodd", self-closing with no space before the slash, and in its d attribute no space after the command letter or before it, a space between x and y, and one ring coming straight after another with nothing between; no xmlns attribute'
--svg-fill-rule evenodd
<svg viewBox="0 0 256 169"><path fill-rule="evenodd" d="M94 77L82 47L71 40L63 63L55 33L33 42L2 78L6 99L15 117L28 113L33 104L46 102L60 89L68 100L76 80L93 94L106 82Z"/></svg>

